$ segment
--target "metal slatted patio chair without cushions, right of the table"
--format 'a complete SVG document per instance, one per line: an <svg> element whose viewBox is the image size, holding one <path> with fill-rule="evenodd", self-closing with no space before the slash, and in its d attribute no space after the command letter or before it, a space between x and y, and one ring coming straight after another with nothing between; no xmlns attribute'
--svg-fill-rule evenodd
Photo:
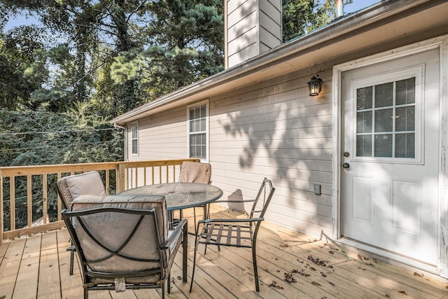
<svg viewBox="0 0 448 299"><path fill-rule="evenodd" d="M265 216L265 212L269 202L274 195L275 188L269 179L263 179L258 190L258 195L254 200L220 200L219 202L253 202L249 218L218 218L205 219L197 223L196 231L199 232L195 237L195 255L193 257L193 273L191 274L190 292L193 288L193 279L195 277L197 246L205 244L204 255L207 253L207 245L246 247L252 249L253 274L255 279L255 289L260 291L258 284L258 267L256 244L258 230Z"/></svg>

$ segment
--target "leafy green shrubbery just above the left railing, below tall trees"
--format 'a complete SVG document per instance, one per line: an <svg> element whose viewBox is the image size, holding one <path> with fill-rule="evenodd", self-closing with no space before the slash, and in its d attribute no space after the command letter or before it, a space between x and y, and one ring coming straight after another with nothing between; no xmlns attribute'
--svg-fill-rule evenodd
<svg viewBox="0 0 448 299"><path fill-rule="evenodd" d="M0 110L0 167L123 160L123 132L77 103L69 113Z"/></svg>

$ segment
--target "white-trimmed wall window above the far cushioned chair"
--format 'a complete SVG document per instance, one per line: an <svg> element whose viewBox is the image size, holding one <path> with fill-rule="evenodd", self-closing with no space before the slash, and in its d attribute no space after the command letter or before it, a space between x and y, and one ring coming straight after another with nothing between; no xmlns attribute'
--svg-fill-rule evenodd
<svg viewBox="0 0 448 299"><path fill-rule="evenodd" d="M188 158L209 160L209 103L188 106Z"/></svg>

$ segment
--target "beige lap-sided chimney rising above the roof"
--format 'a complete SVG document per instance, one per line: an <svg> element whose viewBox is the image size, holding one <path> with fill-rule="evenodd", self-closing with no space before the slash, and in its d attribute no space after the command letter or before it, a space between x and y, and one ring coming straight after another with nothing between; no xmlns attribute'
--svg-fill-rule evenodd
<svg viewBox="0 0 448 299"><path fill-rule="evenodd" d="M225 69L281 45L281 0L225 0Z"/></svg>

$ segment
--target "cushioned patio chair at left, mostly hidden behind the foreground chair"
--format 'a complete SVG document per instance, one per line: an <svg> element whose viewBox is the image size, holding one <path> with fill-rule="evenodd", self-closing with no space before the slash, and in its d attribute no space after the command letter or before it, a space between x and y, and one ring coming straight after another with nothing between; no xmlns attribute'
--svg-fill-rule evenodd
<svg viewBox="0 0 448 299"><path fill-rule="evenodd" d="M71 204L76 197L80 195L106 195L106 189L99 172L84 172L82 174L74 174L64 176L57 180L56 190L61 197L62 207L71 211ZM70 251L70 275L73 274L73 259L75 246L69 246L66 249Z"/></svg>

